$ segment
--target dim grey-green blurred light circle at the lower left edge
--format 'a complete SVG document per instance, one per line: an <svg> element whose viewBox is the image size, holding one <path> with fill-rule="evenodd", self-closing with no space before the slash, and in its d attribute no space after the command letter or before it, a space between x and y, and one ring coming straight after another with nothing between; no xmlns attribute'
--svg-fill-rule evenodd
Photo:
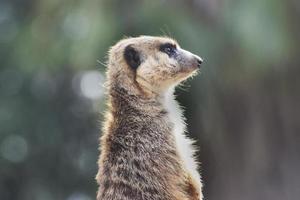
<svg viewBox="0 0 300 200"><path fill-rule="evenodd" d="M9 135L0 144L1 156L11 162L18 163L28 155L28 144L25 138L19 135Z"/></svg>

